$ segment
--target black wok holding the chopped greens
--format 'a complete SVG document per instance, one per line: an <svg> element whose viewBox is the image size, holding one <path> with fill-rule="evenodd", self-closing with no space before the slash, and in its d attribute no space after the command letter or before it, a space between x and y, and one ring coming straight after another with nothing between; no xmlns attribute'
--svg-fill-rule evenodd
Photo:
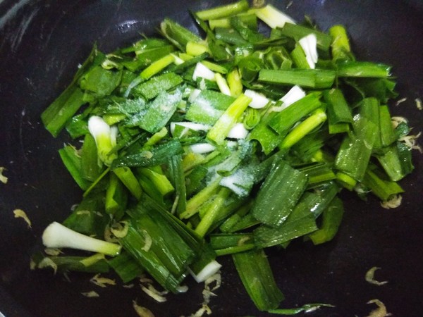
<svg viewBox="0 0 423 317"><path fill-rule="evenodd" d="M133 300L155 316L188 316L202 302L202 285L188 279L186 294L157 304L140 287L100 288L90 276L71 273L68 280L50 271L30 271L30 256L40 249L42 230L63 220L81 192L63 167L57 150L70 139L54 139L40 113L71 82L97 42L102 51L130 44L140 33L152 35L166 16L195 30L188 8L198 10L228 1L80 0L0 1L0 311L13 316L135 316ZM323 30L342 23L353 50L363 60L393 66L398 77L394 116L406 116L414 132L423 130L422 1L294 0L269 1L296 20L309 15ZM343 192L345 216L337 237L319 247L294 243L286 251L268 251L283 307L333 304L312 316L367 316L379 299L393 316L423 316L423 156L413 151L415 171L400 185L403 204L382 209L370 197L360 201ZM13 210L23 209L32 228ZM212 298L213 316L266 316L248 298L231 259L223 263L222 286ZM364 280L373 266L383 286ZM81 292L96 290L99 298Z"/></svg>

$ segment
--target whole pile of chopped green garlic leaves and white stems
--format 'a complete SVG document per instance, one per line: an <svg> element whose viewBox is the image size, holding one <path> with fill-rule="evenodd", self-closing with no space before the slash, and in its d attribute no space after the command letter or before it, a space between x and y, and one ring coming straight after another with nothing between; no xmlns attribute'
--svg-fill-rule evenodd
<svg viewBox="0 0 423 317"><path fill-rule="evenodd" d="M82 144L59 154L83 191L44 245L94 253L35 265L111 268L123 282L147 273L178 293L231 256L257 309L275 311L266 248L332 240L341 190L398 199L410 128L393 125L391 68L357 61L342 25L322 32L247 0L192 17L201 37L166 18L161 36L94 46L42 113L51 135Z"/></svg>

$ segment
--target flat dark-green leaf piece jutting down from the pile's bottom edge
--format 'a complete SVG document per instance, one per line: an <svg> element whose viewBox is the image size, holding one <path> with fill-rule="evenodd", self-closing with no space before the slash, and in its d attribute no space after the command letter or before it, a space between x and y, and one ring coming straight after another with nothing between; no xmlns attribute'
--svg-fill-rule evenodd
<svg viewBox="0 0 423 317"><path fill-rule="evenodd" d="M247 293L260 311L276 309L283 300L263 249L232 255L235 268Z"/></svg>

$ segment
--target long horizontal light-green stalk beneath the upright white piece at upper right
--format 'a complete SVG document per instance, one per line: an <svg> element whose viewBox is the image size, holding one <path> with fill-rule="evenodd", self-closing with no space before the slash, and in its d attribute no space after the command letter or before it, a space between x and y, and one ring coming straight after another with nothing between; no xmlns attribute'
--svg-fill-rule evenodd
<svg viewBox="0 0 423 317"><path fill-rule="evenodd" d="M306 88L330 88L335 77L335 71L324 69L262 69L259 72L259 82L274 85L298 85Z"/></svg>

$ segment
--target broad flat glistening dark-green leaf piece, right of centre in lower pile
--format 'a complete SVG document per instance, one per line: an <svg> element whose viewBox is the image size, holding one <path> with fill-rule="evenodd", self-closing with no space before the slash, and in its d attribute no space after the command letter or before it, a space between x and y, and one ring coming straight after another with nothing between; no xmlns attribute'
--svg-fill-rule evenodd
<svg viewBox="0 0 423 317"><path fill-rule="evenodd" d="M282 225L305 187L305 174L291 168L285 161L276 162L259 189L252 215L266 225Z"/></svg>

